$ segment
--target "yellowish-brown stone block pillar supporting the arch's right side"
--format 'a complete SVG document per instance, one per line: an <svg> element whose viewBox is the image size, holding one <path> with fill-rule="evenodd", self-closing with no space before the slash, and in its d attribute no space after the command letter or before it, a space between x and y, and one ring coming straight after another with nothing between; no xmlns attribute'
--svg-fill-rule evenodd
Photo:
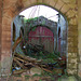
<svg viewBox="0 0 81 81"><path fill-rule="evenodd" d="M67 68L69 75L78 73L78 26L68 26L68 56Z"/></svg>

